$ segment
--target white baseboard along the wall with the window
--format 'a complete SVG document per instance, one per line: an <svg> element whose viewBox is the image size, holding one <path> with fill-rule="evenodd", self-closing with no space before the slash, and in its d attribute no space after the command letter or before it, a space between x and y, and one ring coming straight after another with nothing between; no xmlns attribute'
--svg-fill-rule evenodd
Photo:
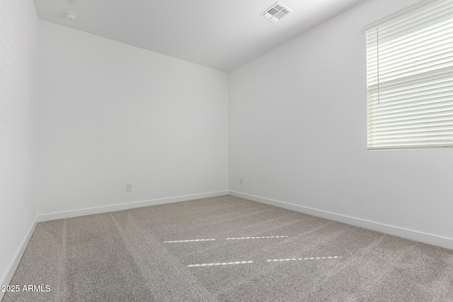
<svg viewBox="0 0 453 302"><path fill-rule="evenodd" d="M379 223L375 221L368 221L365 219L360 219L352 216L345 216L341 214L332 213L329 211L322 211L319 209L313 209L309 207L299 206L297 204L289 204L287 202L280 202L274 199L268 199L264 197L258 197L250 194L243 194L240 192L229 191L230 195L241 197L244 199L250 199L254 202L261 202L263 204L270 204L275 207L280 207L283 209L289 209L292 211L299 211L304 214L309 214L312 216L318 216L321 218L339 221L342 223L347 223L352 226L360 226L361 228L367 228L372 231L378 231L381 233L386 233L393 236L398 236L401 238L406 238L409 240L415 240L421 243L428 243L430 245L437 245L442 248L448 248L453 250L453 238L447 238L442 236L437 236L433 234L423 233L419 231L413 231L408 228L400 228L398 226L390 226L388 224Z"/></svg>

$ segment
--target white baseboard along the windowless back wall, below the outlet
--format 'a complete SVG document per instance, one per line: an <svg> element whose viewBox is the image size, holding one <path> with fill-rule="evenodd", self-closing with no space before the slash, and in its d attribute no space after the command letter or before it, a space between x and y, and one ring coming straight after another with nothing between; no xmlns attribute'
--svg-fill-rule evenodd
<svg viewBox="0 0 453 302"><path fill-rule="evenodd" d="M38 222L42 221L51 221L57 219L66 219L71 217L77 216L85 216L91 214L100 214L100 213L108 213L111 211L122 211L127 209L135 209L140 207L149 207L155 206L157 204L170 204L172 202L185 202L186 200L193 200L193 199L200 199L200 198L207 198L207 197L217 197L222 195L229 194L228 191L219 191L219 192L209 192L209 193L202 193L202 194L192 194L192 195L184 195L178 197L167 197L161 199L152 199L146 200L142 202L130 202L126 204L114 204L111 206L105 207L94 207L88 209L78 209L74 211L62 211L57 213L50 213L50 214L40 214L38 215Z"/></svg>

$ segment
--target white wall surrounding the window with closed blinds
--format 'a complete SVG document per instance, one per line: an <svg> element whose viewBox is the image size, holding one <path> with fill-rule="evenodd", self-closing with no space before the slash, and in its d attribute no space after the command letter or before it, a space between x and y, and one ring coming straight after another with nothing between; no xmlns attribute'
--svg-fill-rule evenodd
<svg viewBox="0 0 453 302"><path fill-rule="evenodd" d="M453 248L453 150L367 151L362 29L416 2L364 1L231 72L232 192Z"/></svg>

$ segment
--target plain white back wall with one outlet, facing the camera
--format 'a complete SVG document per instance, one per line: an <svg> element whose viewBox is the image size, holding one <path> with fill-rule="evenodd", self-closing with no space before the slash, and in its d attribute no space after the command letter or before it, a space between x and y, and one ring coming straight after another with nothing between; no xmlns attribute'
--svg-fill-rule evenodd
<svg viewBox="0 0 453 302"><path fill-rule="evenodd" d="M227 192L226 73L39 25L39 214Z"/></svg>

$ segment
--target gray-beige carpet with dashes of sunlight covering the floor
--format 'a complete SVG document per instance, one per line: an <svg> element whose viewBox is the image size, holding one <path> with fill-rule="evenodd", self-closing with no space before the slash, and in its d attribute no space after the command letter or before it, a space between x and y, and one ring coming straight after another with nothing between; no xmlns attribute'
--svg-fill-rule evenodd
<svg viewBox="0 0 453 302"><path fill-rule="evenodd" d="M38 223L16 284L4 302L453 301L453 250L223 196Z"/></svg>

